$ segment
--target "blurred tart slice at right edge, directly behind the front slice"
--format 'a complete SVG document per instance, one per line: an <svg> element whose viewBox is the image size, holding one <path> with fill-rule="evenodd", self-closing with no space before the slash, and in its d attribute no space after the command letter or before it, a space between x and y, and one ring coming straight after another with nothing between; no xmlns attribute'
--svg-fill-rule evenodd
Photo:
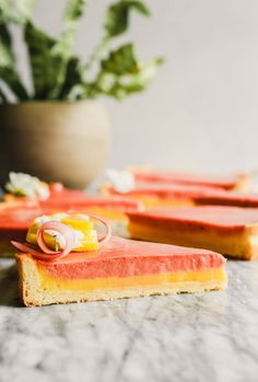
<svg viewBox="0 0 258 382"><path fill-rule="evenodd" d="M129 213L131 238L258 258L258 209L189 207Z"/></svg>

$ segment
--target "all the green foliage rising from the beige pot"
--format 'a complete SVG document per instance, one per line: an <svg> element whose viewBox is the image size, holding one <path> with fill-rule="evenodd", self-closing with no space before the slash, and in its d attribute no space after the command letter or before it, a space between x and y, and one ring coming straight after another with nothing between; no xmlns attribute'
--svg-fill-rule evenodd
<svg viewBox="0 0 258 382"><path fill-rule="evenodd" d="M101 95L118 100L143 91L156 73L161 59L142 63L131 43L114 49L114 38L127 32L132 12L149 16L140 0L119 0L110 4L105 15L103 39L86 63L74 55L78 23L87 0L69 0L59 38L39 30L32 21L33 0L0 0L0 103L9 102L9 89L17 101L75 101ZM33 90L27 93L15 68L9 26L22 30L31 65ZM92 68L97 68L92 78ZM3 85L4 84L4 85Z"/></svg>

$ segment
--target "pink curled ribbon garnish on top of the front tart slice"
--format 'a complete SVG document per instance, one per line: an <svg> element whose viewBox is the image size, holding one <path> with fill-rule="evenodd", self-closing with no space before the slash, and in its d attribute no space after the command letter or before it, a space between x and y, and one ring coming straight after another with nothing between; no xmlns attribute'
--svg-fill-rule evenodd
<svg viewBox="0 0 258 382"><path fill-rule="evenodd" d="M99 235L97 238L97 242L99 244L103 244L104 242L108 241L110 239L112 235L112 230L110 230L110 225L108 224L108 222L103 219L102 217L98 217L96 215L92 215L92 213L87 213L87 216L98 222L101 222L104 227L105 227L105 233L103 235ZM58 250L59 245L57 245L56 242L56 248L52 250L50 248L44 238L44 233L45 232L55 232L54 238L57 238L57 234L62 238L61 243L61 250L60 251L56 251ZM37 234L36 234L36 242L37 245L39 246L39 248L42 250L38 251L37 248L33 247L31 244L27 243L19 243L19 242L14 242L12 241L12 245L14 245L19 251L24 252L24 253L28 253L31 254L33 257L35 257L36 259L39 261L46 261L46 262L52 262L56 259L60 259L64 256L67 256L70 252L73 251L74 247L78 246L78 241L77 241L77 235L74 230L60 222L60 221L46 221L44 222L37 230ZM60 244L60 243L58 243Z"/></svg>

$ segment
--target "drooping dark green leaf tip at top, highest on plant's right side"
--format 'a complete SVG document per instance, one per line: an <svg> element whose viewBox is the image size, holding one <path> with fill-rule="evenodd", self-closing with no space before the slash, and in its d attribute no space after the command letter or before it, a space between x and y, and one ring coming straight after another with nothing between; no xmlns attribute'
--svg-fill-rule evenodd
<svg viewBox="0 0 258 382"><path fill-rule="evenodd" d="M107 9L105 30L108 37L118 36L127 31L132 10L144 16L150 15L150 10L140 0L120 0Z"/></svg>

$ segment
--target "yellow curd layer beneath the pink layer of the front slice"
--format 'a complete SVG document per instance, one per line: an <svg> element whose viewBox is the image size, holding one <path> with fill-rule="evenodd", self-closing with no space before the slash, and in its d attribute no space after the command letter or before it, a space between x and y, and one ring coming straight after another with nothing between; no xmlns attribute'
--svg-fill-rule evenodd
<svg viewBox="0 0 258 382"><path fill-rule="evenodd" d="M49 276L44 268L38 267L38 283L44 292L50 291L94 291L102 289L125 289L130 287L148 287L177 282L206 283L220 281L226 283L224 268L214 268L197 271L163 273L159 275L143 275L133 277L106 277L94 279L62 279Z"/></svg>

